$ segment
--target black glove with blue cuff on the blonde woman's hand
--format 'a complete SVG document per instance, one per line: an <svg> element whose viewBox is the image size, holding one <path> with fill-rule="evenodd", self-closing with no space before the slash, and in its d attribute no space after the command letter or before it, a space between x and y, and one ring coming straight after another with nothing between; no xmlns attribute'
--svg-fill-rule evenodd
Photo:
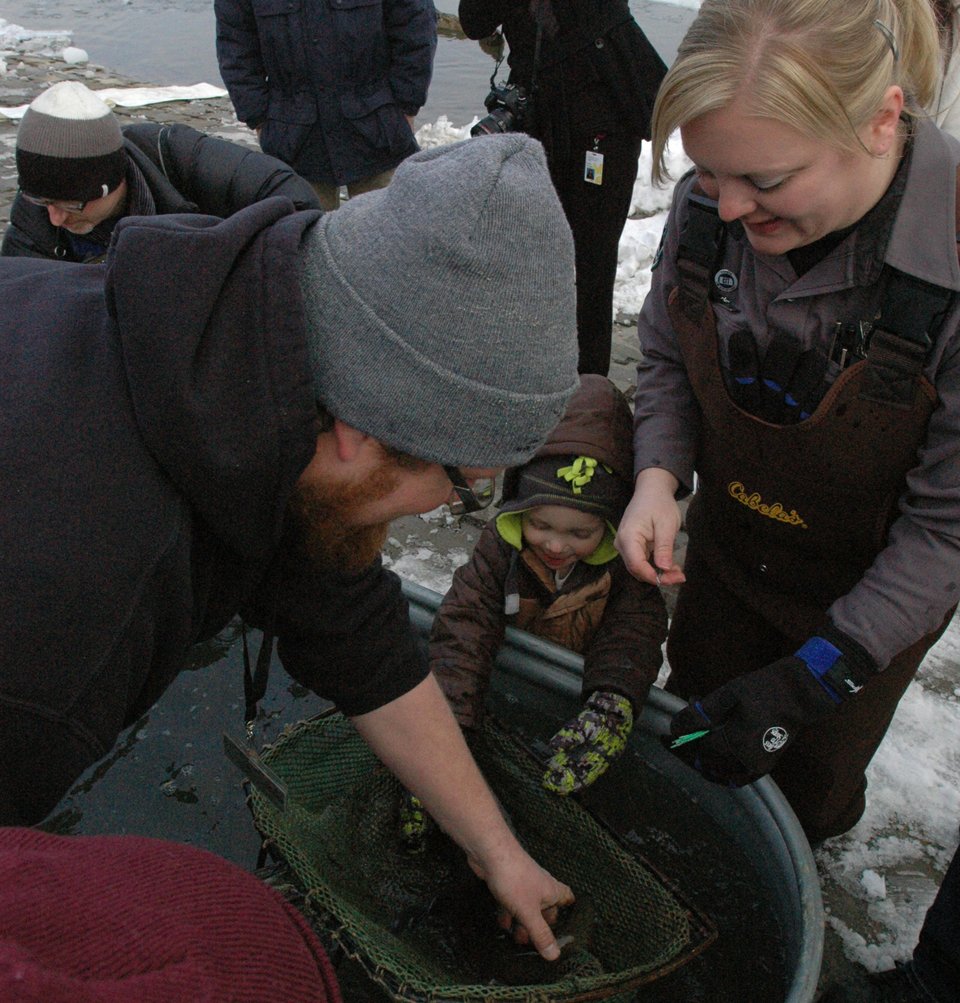
<svg viewBox="0 0 960 1003"><path fill-rule="evenodd" d="M805 726L876 673L866 650L829 624L795 654L691 700L664 744L706 779L741 787L765 776Z"/></svg>

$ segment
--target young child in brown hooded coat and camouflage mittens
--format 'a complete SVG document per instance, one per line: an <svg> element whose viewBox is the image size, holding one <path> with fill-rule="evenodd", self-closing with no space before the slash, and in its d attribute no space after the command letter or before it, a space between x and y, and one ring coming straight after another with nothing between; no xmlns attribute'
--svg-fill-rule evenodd
<svg viewBox="0 0 960 1003"><path fill-rule="evenodd" d="M662 662L666 607L613 539L633 490L633 418L604 376L583 375L560 424L507 471L501 512L453 576L430 635L430 668L464 728L483 718L507 626L584 656L584 708L554 735L544 786L570 794L623 751Z"/></svg>

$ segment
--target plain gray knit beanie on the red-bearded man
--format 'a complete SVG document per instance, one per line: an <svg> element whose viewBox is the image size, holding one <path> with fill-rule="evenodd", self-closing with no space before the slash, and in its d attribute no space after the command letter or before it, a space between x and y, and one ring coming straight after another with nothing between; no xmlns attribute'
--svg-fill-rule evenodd
<svg viewBox="0 0 960 1003"><path fill-rule="evenodd" d="M578 382L573 239L539 142L415 153L321 217L302 252L327 410L432 462L533 455Z"/></svg>

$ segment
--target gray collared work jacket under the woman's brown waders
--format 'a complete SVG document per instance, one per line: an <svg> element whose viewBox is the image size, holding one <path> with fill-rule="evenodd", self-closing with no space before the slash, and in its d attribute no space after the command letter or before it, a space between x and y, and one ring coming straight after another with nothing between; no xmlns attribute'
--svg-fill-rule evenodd
<svg viewBox="0 0 960 1003"><path fill-rule="evenodd" d="M762 353L773 334L796 336L802 348L829 353L839 319L873 318L881 303L885 263L960 291L955 201L960 142L929 122L918 124L906 190L889 243L855 229L797 277L785 256L756 254L742 229L727 228L720 268L737 278L729 304L714 303L721 364L730 334L749 329ZM678 283L679 235L694 179L677 185L650 292L638 321L635 470L670 470L693 486L700 412L684 370L667 299ZM924 374L938 403L906 477L887 546L860 581L827 611L880 666L940 625L960 598L960 306L940 326ZM785 457L784 462L788 462ZM830 485L824 490L829 492Z"/></svg>

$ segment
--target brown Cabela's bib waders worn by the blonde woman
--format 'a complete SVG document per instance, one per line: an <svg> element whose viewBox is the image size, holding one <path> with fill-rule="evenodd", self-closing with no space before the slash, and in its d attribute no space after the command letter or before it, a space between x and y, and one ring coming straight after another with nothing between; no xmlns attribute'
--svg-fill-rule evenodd
<svg viewBox="0 0 960 1003"><path fill-rule="evenodd" d="M841 373L806 421L775 425L748 414L723 381L707 296L713 269L678 264L670 315L702 430L667 689L689 699L792 654L860 581L897 517L937 397L921 373L922 351L878 330L868 357ZM949 620L781 757L772 778L812 842L860 818L867 765Z"/></svg>

